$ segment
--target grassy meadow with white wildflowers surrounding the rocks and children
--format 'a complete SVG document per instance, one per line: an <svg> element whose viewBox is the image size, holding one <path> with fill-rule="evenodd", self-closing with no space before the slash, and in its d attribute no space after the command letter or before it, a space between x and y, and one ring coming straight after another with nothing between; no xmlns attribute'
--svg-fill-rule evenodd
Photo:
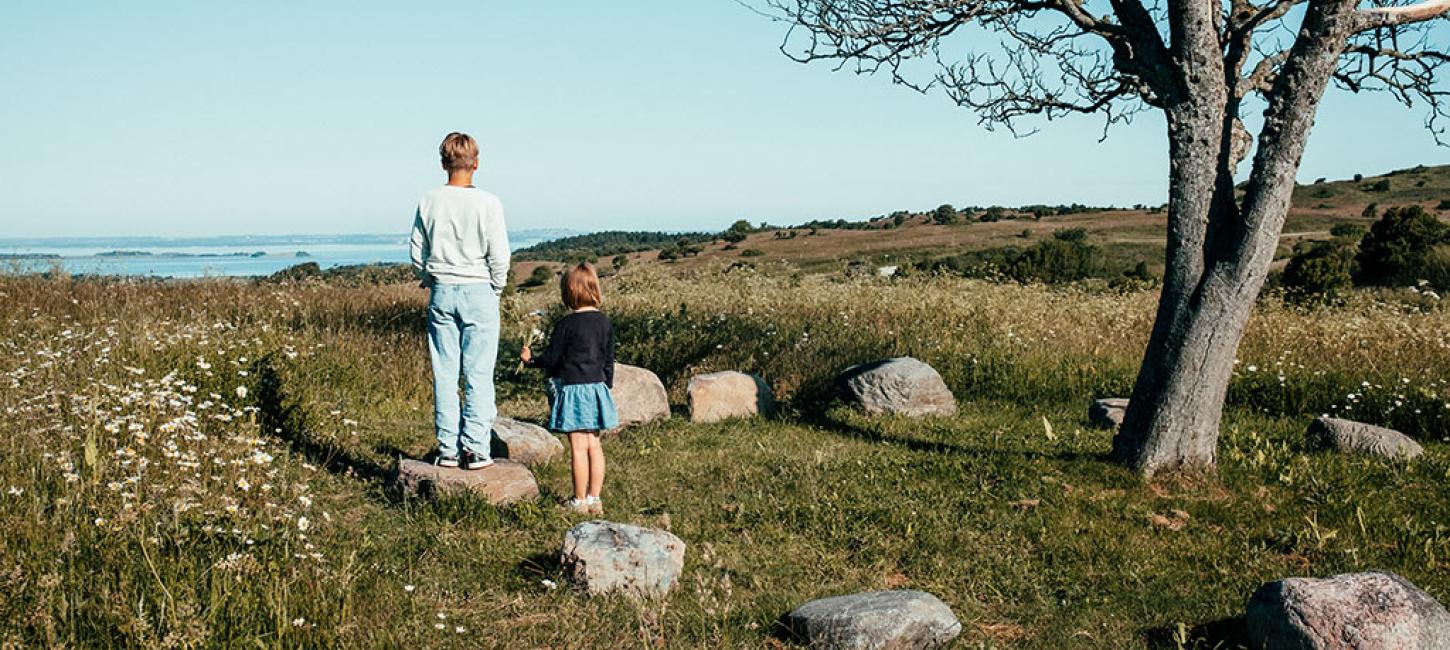
<svg viewBox="0 0 1450 650"><path fill-rule="evenodd" d="M1388 569L1450 601L1437 296L1262 300L1219 473L1144 483L1085 414L1130 390L1151 290L692 264L606 281L621 360L677 405L734 369L784 408L606 440L608 517L689 544L645 602L564 583L563 463L502 509L384 488L432 445L420 289L0 277L0 646L787 647L776 621L806 599L915 588L961 647L1234 647L1250 592L1283 576ZM510 360L554 302L506 300L506 415L545 412ZM942 373L957 416L831 402L838 370L900 354ZM1318 414L1427 451L1309 448Z"/></svg>

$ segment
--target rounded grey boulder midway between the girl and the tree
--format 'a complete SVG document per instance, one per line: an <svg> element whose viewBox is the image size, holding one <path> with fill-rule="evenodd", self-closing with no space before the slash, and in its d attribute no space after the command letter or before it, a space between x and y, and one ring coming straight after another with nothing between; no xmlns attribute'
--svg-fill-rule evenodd
<svg viewBox="0 0 1450 650"><path fill-rule="evenodd" d="M953 415L957 398L935 369L911 357L847 369L837 379L841 396L869 414Z"/></svg>

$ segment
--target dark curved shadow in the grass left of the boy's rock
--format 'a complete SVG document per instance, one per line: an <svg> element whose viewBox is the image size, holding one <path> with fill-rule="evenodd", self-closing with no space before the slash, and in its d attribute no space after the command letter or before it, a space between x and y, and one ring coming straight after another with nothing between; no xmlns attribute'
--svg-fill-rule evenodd
<svg viewBox="0 0 1450 650"><path fill-rule="evenodd" d="M281 373L270 357L257 360L252 373L257 376L258 424L264 432L284 440L307 461L335 474L358 476L371 482L389 479L392 467L307 434L307 415L287 395ZM376 451L394 458L403 456L402 450L392 445L380 445Z"/></svg>

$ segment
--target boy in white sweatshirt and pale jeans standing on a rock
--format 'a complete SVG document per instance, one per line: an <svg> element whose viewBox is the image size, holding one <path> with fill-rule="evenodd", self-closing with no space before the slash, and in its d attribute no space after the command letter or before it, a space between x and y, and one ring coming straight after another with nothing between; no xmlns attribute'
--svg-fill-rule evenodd
<svg viewBox="0 0 1450 650"><path fill-rule="evenodd" d="M509 235L499 197L473 186L478 144L465 133L448 133L438 155L448 184L428 190L418 202L410 241L413 270L422 286L432 289L428 355L434 366L435 463L478 470L493 464L493 363L499 354L499 295L509 277Z"/></svg>

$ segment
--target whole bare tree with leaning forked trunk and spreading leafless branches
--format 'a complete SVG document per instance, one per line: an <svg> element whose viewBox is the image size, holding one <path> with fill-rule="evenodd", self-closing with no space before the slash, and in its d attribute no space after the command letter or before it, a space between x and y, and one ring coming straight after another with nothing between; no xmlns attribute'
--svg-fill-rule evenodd
<svg viewBox="0 0 1450 650"><path fill-rule="evenodd" d="M987 128L1021 118L1161 110L1167 271L1114 454L1143 474L1212 467L1244 325L1273 260L1320 99L1333 81L1428 106L1447 61L1431 25L1450 0L766 0L802 62L941 89ZM1372 0L1379 3L1382 0ZM958 49L960 45L960 49ZM973 49L976 46L976 49ZM957 54L948 54L957 52ZM1240 119L1263 110L1254 148Z"/></svg>

